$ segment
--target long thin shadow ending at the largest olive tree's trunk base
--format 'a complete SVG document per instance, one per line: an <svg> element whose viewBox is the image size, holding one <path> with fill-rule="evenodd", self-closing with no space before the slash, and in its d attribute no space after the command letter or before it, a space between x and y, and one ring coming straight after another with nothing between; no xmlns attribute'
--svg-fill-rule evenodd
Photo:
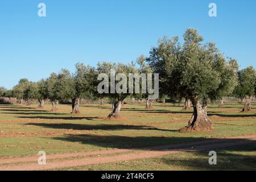
<svg viewBox="0 0 256 182"><path fill-rule="evenodd" d="M159 131L176 131L164 130L151 126L135 126L135 125L85 125L72 123L26 123L26 125L42 126L51 129L72 129L72 130L159 130Z"/></svg>

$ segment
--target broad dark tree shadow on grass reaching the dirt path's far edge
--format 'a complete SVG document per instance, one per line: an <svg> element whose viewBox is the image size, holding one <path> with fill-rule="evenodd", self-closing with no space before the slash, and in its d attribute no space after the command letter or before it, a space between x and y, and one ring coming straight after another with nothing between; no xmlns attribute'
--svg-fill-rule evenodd
<svg viewBox="0 0 256 182"><path fill-rule="evenodd" d="M117 135L87 135L66 134L64 137L53 137L55 140L67 142L80 142L106 148L138 148L139 150L166 151L182 150L212 150L237 143L238 145L255 143L249 139L219 139L203 137L127 137ZM150 147L152 146L152 147ZM215 146L215 147L214 147ZM183 150L184 151L184 150Z"/></svg>

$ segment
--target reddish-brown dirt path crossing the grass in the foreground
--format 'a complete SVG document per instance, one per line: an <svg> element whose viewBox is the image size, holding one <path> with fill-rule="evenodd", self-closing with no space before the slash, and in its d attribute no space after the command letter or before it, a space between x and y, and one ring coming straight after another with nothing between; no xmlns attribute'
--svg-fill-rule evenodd
<svg viewBox="0 0 256 182"><path fill-rule="evenodd" d="M24 156L21 158L0 158L0 170L31 171L86 166L90 164L104 164L134 159L154 158L168 154L177 154L179 152L214 150L255 142L256 135L248 135L224 139L205 139L197 142L168 144L165 146L155 147L54 154L47 155L46 165L38 164L37 155Z"/></svg>

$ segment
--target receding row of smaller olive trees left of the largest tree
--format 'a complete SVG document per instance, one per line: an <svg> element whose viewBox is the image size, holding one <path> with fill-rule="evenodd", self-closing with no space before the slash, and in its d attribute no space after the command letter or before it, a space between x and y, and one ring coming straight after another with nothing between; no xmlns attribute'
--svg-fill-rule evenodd
<svg viewBox="0 0 256 182"><path fill-rule="evenodd" d="M98 93L97 87L101 80L98 80L100 73L106 73L109 76L107 81L108 86L102 85L103 88L108 88L110 85L110 69L115 70L115 75L123 73L126 77L129 73L138 73L139 69L134 63L98 63L97 68L82 63L76 64L76 72L70 73L67 69L61 69L59 73L52 73L48 78L38 82L28 81L23 78L11 90L11 94L7 97L15 97L21 104L22 100L26 101L27 105L31 104L31 100L38 100L39 107L44 107L44 101L49 100L52 104L52 110L57 110L60 101L72 101L72 113L79 113L80 100L82 98L90 98L96 100L99 98L108 97L112 101L112 113L109 118L120 118L119 111L121 110L123 101L129 96L129 83L126 82L126 93ZM122 78L119 78L122 81ZM104 82L102 82L104 83ZM121 89L122 89L122 85ZM6 92L6 90L5 90ZM143 94L140 94L143 97ZM135 94L134 94L135 96Z"/></svg>

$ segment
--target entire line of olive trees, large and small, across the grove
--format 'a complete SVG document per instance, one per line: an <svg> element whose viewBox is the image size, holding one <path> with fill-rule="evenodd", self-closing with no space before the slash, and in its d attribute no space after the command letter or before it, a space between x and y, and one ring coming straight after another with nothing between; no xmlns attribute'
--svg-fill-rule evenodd
<svg viewBox="0 0 256 182"><path fill-rule="evenodd" d="M108 97L112 101L112 113L109 118L120 117L120 109L127 97L143 98L147 100L147 107L151 107L152 102L148 100L148 94L130 94L129 90L125 93L98 93L99 84L102 84L104 89L110 89L110 69L113 69L115 74L123 73L126 77L129 73L159 73L160 98L185 98L185 105L191 102L192 117L188 126L181 131L213 129L207 116L209 100L223 101L229 96L246 98L243 111L250 110L251 97L255 95L256 87L255 69L248 67L239 71L236 60L227 59L213 42L204 44L203 37L193 28L185 32L183 39L183 44L177 37L160 39L158 46L151 48L150 56L137 59L139 67L133 62L103 62L98 63L97 68L78 63L74 74L62 69L60 73L52 73L39 82L22 79L14 86L12 93L17 100L26 100L28 104L32 99L37 99L40 107L43 107L44 100L49 100L52 110L57 109L59 101L72 100L72 113L79 113L81 98ZM108 80L98 80L100 73L106 73ZM123 80L118 79L120 82ZM129 89L129 86L126 88Z"/></svg>

